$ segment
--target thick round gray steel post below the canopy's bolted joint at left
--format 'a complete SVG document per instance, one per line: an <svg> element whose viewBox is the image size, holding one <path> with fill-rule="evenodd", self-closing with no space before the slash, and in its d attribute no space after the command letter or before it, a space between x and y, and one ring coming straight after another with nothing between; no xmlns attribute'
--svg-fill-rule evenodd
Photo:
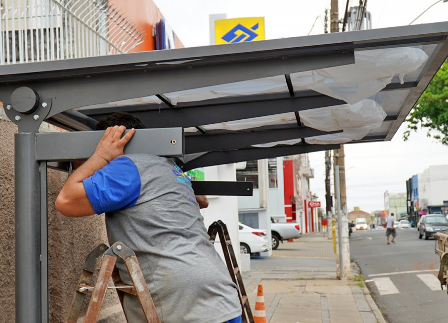
<svg viewBox="0 0 448 323"><path fill-rule="evenodd" d="M15 135L15 322L41 321L40 174L36 136Z"/></svg>

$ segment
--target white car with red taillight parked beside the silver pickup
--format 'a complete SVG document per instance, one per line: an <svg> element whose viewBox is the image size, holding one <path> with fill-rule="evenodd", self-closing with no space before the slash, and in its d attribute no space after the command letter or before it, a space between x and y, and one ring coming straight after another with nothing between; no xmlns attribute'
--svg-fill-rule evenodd
<svg viewBox="0 0 448 323"><path fill-rule="evenodd" d="M268 242L266 230L254 229L239 223L238 237L241 253L255 253L268 251L271 243Z"/></svg>

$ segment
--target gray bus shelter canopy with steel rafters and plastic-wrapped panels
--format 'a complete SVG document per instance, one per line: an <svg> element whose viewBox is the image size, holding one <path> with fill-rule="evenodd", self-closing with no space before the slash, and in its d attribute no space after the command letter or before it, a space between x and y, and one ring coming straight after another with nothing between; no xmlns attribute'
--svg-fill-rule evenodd
<svg viewBox="0 0 448 323"><path fill-rule="evenodd" d="M0 66L0 100L21 131L89 131L117 111L183 128L184 170L329 150L391 140L447 35L441 22Z"/></svg>

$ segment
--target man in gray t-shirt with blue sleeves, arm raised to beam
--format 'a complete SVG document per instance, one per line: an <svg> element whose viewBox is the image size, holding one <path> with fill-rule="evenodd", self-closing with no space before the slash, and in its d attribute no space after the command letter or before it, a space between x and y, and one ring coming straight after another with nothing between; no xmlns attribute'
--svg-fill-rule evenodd
<svg viewBox="0 0 448 323"><path fill-rule="evenodd" d="M70 217L106 213L109 242L135 252L161 322L241 322L236 285L209 241L188 176L171 159L123 156L139 119L137 126L120 119L106 120L114 126L69 176L57 209ZM124 264L116 266L130 284ZM145 322L136 297L126 294L123 306L128 322Z"/></svg>

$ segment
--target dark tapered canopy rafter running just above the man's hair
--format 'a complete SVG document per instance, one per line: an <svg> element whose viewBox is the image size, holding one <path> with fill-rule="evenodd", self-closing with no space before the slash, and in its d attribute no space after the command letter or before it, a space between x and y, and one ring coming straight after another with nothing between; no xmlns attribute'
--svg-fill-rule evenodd
<svg viewBox="0 0 448 323"><path fill-rule="evenodd" d="M391 83L383 91L412 88L416 85L416 82ZM138 116L149 128L188 128L339 104L346 104L346 102L316 91L306 90L296 92L294 97L291 97L289 93L258 94L178 103L175 107L141 104L82 109L80 112L101 120L114 112L126 111Z"/></svg>

